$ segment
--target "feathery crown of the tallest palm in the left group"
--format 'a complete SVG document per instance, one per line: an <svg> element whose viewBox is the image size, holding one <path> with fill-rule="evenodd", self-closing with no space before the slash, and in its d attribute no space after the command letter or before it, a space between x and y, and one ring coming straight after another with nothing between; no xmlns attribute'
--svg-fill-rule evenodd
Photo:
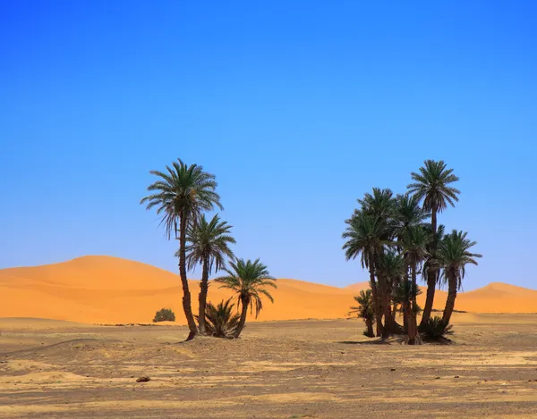
<svg viewBox="0 0 537 419"><path fill-rule="evenodd" d="M215 175L204 172L198 164L187 165L177 159L171 167L166 166L166 172L150 173L159 180L149 185L148 190L153 193L141 199L141 204L147 204L147 209L157 207L168 239L176 232L178 219L195 223L203 211L210 211L215 205L223 209L215 192Z"/></svg>

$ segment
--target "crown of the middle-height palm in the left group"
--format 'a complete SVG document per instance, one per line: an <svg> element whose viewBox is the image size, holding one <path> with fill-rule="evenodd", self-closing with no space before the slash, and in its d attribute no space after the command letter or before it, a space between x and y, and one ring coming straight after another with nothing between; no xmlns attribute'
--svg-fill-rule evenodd
<svg viewBox="0 0 537 419"><path fill-rule="evenodd" d="M210 222L205 215L201 218L197 226L190 226L187 230L186 263L189 269L193 269L196 264L208 263L208 270L215 272L226 266L226 257L233 258L233 252L229 248L235 243L235 239L230 235L233 226L227 222L220 221L216 214ZM179 252L175 254L179 256Z"/></svg>

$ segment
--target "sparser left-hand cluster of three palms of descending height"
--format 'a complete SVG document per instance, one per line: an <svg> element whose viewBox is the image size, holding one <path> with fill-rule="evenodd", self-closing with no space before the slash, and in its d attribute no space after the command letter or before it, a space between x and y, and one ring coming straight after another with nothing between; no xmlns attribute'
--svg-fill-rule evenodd
<svg viewBox="0 0 537 419"><path fill-rule="evenodd" d="M179 240L179 250L175 256L179 258L183 311L190 331L187 340L193 339L198 333L213 334L215 315L227 314L229 317L230 307L233 307L229 302L222 302L219 305L220 311L218 307L207 303L209 276L221 270L226 275L217 278L215 282L221 288L234 291L237 308L242 307L240 317L228 322L227 326L231 324L231 330L226 330L225 337L238 338L243 331L248 309L255 311L257 316L262 308L261 296L274 302L267 287L276 288L276 280L270 276L267 266L261 264L259 258L253 262L235 259L230 248L235 243L231 236L231 225L222 221L218 214L210 221L207 220L205 212L216 207L223 210L214 174L205 172L198 164L183 163L181 159L166 166L165 172L150 173L158 180L149 185L150 194L141 199L141 204L145 204L148 210L156 208L161 224L166 229L167 239L175 237ZM197 324L192 313L187 269L193 269L198 264L201 265L202 272ZM218 326L216 329L220 330Z"/></svg>

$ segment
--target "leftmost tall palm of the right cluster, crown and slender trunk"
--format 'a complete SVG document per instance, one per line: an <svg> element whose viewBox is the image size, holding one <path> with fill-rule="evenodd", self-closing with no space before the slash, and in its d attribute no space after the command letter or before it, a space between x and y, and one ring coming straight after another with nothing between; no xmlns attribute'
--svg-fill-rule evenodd
<svg viewBox="0 0 537 419"><path fill-rule="evenodd" d="M387 244L384 222L377 217L355 210L353 216L346 220L347 228L342 235L346 239L343 249L346 260L355 259L361 256L362 268L370 272L371 294L373 297L373 308L375 320L377 322L377 336L382 335L382 314L380 312L381 302L379 289L375 282L375 262L384 252Z"/></svg>

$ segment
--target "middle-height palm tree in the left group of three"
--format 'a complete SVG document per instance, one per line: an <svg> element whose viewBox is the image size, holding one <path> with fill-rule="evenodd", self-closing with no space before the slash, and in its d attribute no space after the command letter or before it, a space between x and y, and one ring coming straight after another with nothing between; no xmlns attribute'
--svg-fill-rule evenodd
<svg viewBox="0 0 537 419"><path fill-rule="evenodd" d="M231 225L220 221L216 214L210 222L207 222L205 214L201 215L196 225L190 225L186 233L186 264L188 269L193 269L197 264L202 266L198 323L200 333L205 334L205 306L209 290L209 275L226 267L226 257L233 258L233 252L229 248L235 243L230 236ZM180 252L175 253L180 256Z"/></svg>

